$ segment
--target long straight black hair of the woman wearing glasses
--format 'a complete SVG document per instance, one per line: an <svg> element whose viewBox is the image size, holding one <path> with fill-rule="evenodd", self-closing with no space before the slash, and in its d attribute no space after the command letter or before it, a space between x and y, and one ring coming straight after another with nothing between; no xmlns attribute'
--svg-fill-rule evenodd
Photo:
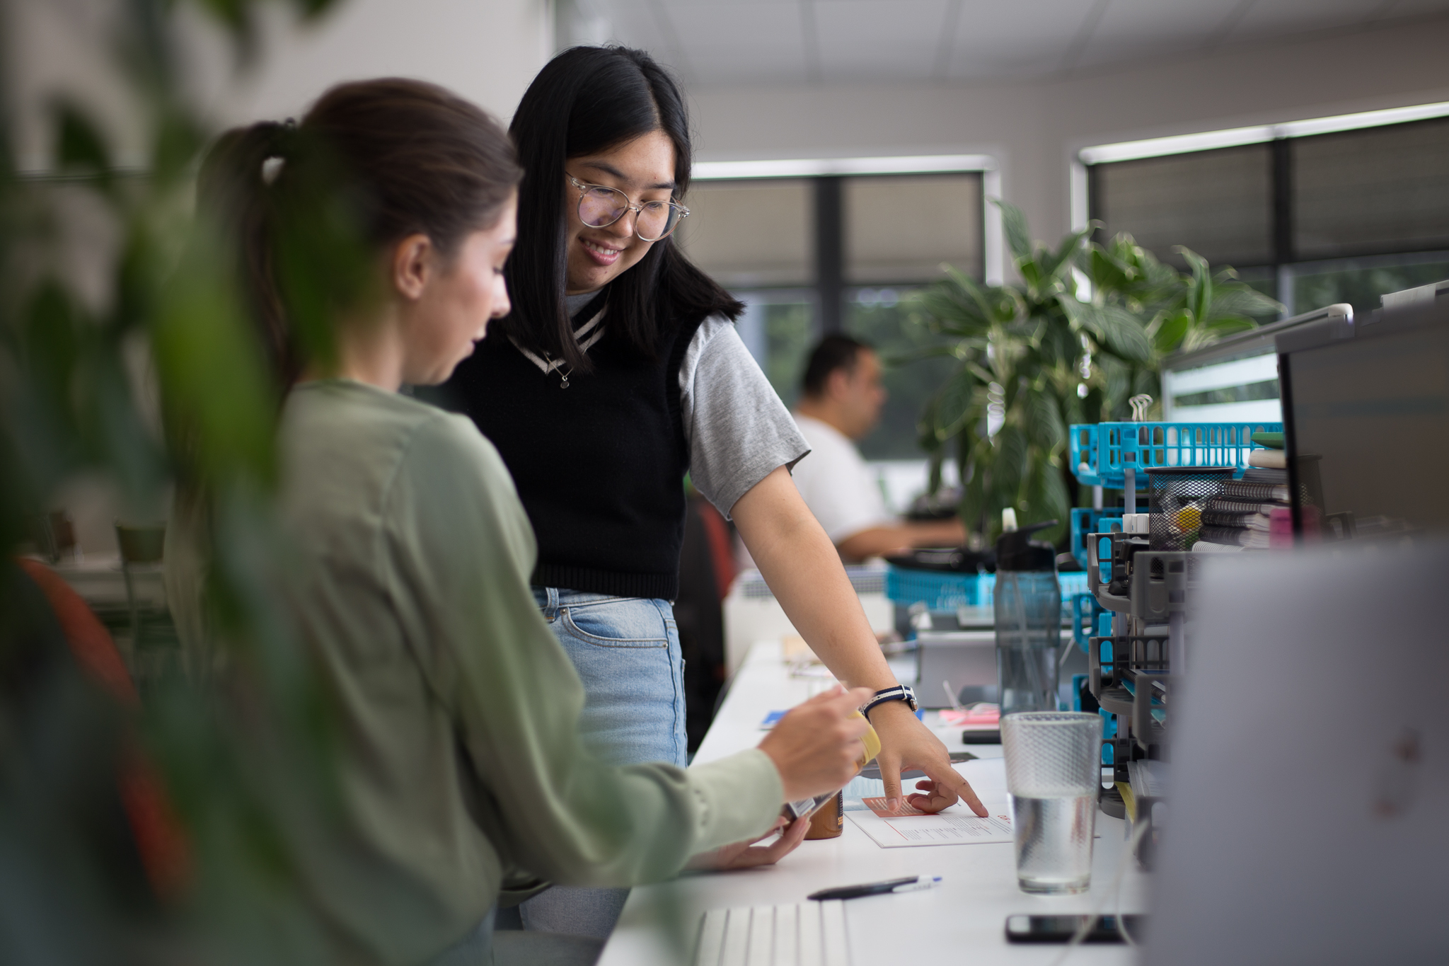
<svg viewBox="0 0 1449 966"><path fill-rule="evenodd" d="M690 187L690 123L674 78L643 51L575 46L549 61L529 84L509 133L523 164L519 240L506 268L513 311L501 332L536 352L587 372L564 303L564 162L662 130L674 143L674 194ZM609 335L646 358L658 356L668 326L745 306L680 251L674 235L609 284Z"/></svg>

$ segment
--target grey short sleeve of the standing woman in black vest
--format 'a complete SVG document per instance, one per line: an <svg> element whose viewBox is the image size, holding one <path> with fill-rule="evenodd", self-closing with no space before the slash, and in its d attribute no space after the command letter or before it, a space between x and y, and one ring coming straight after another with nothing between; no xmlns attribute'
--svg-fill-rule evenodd
<svg viewBox="0 0 1449 966"><path fill-rule="evenodd" d="M680 366L690 479L726 517L777 466L810 452L790 410L723 316L694 333Z"/></svg>

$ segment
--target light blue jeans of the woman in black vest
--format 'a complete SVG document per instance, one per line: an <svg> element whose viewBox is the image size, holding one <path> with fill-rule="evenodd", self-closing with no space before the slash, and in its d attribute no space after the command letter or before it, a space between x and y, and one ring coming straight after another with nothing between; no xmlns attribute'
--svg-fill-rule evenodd
<svg viewBox="0 0 1449 966"><path fill-rule="evenodd" d="M669 601L535 587L584 682L584 747L610 765L685 766L684 658ZM607 938L629 889L554 886L519 907L526 930Z"/></svg>

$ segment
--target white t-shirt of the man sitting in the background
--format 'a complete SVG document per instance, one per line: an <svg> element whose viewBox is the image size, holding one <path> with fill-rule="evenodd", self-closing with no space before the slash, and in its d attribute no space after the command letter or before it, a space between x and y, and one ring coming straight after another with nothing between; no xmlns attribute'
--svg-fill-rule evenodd
<svg viewBox="0 0 1449 966"><path fill-rule="evenodd" d="M851 437L810 416L794 413L794 417L810 443L810 455L796 463L791 475L830 540L840 543L871 527L894 526L875 474Z"/></svg>

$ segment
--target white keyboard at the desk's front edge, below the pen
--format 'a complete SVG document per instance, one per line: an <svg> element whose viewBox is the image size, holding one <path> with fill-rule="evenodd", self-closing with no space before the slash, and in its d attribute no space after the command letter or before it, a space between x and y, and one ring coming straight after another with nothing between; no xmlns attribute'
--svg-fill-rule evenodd
<svg viewBox="0 0 1449 966"><path fill-rule="evenodd" d="M849 966L845 901L710 910L694 966Z"/></svg>

